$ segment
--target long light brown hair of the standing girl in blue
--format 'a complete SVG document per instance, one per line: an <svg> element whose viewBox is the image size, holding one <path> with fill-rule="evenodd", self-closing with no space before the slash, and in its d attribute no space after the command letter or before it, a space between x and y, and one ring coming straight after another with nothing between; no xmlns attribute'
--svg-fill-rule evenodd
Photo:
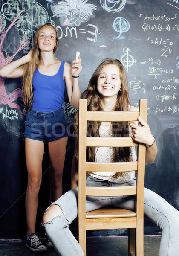
<svg viewBox="0 0 179 256"><path fill-rule="evenodd" d="M56 32L56 46L53 49L53 52L55 52L58 48L58 32L54 26L52 26L51 23L46 23L44 25L41 25L37 32L35 33L34 39L33 39L33 52L31 56L31 60L26 63L23 67L23 101L24 105L26 107L26 111L31 110L32 106L32 100L33 100L33 87L32 87L32 78L34 75L34 72L41 61L41 50L38 46L38 36L40 29L42 29L44 26L51 26L55 32Z"/></svg>

